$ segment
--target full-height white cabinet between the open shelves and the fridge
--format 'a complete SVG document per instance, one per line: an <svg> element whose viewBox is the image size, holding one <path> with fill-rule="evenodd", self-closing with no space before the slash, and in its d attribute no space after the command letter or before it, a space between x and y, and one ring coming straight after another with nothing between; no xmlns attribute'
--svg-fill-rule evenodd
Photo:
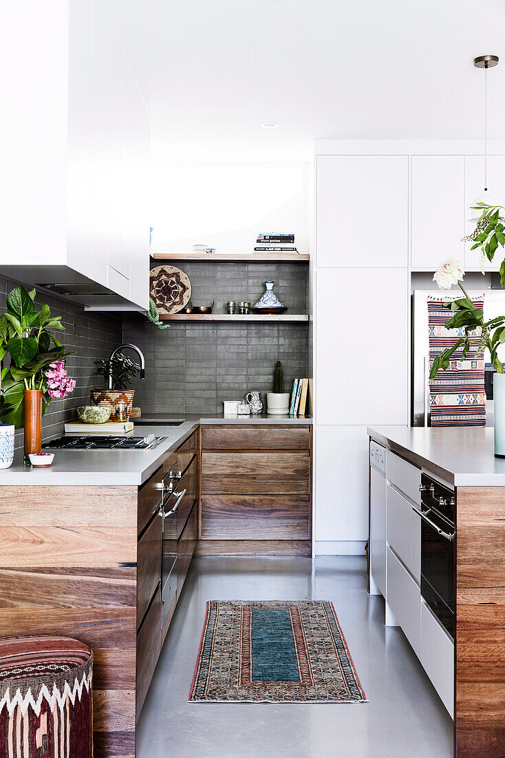
<svg viewBox="0 0 505 758"><path fill-rule="evenodd" d="M363 553L367 424L407 424L407 155L316 157L317 553Z"/></svg>

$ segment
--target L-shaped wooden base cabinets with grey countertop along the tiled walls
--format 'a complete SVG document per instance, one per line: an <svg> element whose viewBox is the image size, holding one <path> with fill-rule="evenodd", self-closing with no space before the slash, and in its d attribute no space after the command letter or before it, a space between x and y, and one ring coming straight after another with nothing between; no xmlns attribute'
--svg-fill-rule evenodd
<svg viewBox="0 0 505 758"><path fill-rule="evenodd" d="M135 756L200 541L211 554L311 549L310 418L161 420L135 424L136 436L161 437L152 447L55 449L39 469L18 451L0 471L0 637L64 634L92 647L95 756Z"/></svg>

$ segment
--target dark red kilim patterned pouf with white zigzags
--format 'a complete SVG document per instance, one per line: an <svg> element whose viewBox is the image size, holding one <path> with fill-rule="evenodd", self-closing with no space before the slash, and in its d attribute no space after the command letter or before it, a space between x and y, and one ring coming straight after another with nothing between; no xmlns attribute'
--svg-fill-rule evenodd
<svg viewBox="0 0 505 758"><path fill-rule="evenodd" d="M78 640L0 639L0 756L92 758L92 672Z"/></svg>

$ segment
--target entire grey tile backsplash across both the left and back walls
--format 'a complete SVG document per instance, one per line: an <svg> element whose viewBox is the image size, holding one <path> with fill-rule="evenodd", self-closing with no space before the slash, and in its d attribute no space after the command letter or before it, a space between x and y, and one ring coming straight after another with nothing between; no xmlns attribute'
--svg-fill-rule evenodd
<svg viewBox="0 0 505 758"><path fill-rule="evenodd" d="M193 305L210 305L226 312L228 300L249 300L264 292L264 281L275 280L274 290L288 313L307 312L307 265L212 264L181 265L192 282ZM0 277L0 309L15 282ZM222 412L223 400L241 399L249 390L264 393L273 388L276 361L284 368L285 390L295 377L308 376L309 328L307 323L247 323L173 321L158 330L147 321L122 322L114 315L85 312L79 305L38 293L63 316L66 330L61 341L75 354L67 370L76 389L63 400L53 400L43 418L42 437L63 433L64 421L75 418L76 406L89 404L89 390L102 386L95 376L95 360L106 359L122 342L135 343L145 356L145 379L137 380L134 404L145 413ZM16 447L23 446L23 431Z"/></svg>

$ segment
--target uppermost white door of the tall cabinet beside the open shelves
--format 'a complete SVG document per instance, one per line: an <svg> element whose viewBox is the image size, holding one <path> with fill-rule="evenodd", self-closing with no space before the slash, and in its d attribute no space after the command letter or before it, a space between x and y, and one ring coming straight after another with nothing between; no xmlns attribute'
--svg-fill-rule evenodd
<svg viewBox="0 0 505 758"><path fill-rule="evenodd" d="M320 155L316 265L407 266L407 155Z"/></svg>

